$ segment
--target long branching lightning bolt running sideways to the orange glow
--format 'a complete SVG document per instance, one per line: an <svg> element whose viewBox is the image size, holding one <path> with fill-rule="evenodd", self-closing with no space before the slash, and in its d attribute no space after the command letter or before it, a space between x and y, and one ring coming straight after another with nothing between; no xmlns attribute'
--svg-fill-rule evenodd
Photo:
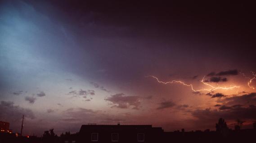
<svg viewBox="0 0 256 143"><path fill-rule="evenodd" d="M205 76L203 77L201 82L202 82L202 84L205 84L205 85L209 86L210 88L209 89L202 88L202 89L198 89L198 90L193 88L193 84L186 84L186 83L184 83L184 82L182 82L180 80L171 80L171 81L163 82L163 81L160 81L156 76L146 76L146 77L152 77L152 78L156 79L157 82L162 83L162 84L175 84L175 83L178 83L178 84L182 84L184 86L189 86L189 87L191 87L191 90L193 90L193 92L202 92L202 91L211 92L211 91L214 91L214 90L217 90L217 89L228 90L228 89L239 88L239 86L235 86L235 85L230 85L230 87L220 87L220 86L215 87L215 86L213 86L211 84L208 84L208 83L204 82Z"/></svg>

